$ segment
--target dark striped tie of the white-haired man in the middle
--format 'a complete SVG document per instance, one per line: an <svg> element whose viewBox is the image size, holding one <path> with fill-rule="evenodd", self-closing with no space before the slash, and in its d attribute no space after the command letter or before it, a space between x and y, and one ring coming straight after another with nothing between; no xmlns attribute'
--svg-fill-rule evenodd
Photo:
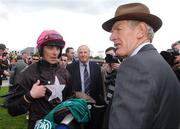
<svg viewBox="0 0 180 129"><path fill-rule="evenodd" d="M90 78L89 78L89 74L87 71L87 64L83 64L84 65L84 90L86 94L89 94L90 88Z"/></svg>

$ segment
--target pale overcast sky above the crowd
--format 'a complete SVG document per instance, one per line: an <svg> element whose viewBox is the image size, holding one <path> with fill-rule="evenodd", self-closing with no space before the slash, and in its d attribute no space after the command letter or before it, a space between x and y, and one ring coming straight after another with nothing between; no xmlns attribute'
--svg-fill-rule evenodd
<svg viewBox="0 0 180 129"><path fill-rule="evenodd" d="M120 4L142 2L163 21L153 41L158 51L180 40L179 0L0 0L0 42L10 50L35 47L39 34L57 30L66 47L86 44L91 51L113 46L101 25Z"/></svg>

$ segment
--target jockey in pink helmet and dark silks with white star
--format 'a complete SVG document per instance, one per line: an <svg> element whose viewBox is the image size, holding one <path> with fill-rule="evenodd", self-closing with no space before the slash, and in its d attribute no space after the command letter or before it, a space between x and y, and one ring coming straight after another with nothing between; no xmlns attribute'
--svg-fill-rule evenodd
<svg viewBox="0 0 180 129"><path fill-rule="evenodd" d="M10 115L17 116L29 111L28 129L34 129L38 120L63 101L68 71L60 68L58 58L64 46L65 41L57 31L43 31L37 40L42 59L20 74L14 94L8 99Z"/></svg>

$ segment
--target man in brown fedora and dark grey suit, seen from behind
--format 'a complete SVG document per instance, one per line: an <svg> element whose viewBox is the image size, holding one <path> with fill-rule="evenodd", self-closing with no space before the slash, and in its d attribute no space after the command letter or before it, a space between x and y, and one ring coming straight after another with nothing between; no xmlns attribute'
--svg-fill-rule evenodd
<svg viewBox="0 0 180 129"><path fill-rule="evenodd" d="M116 55L124 58L116 76L109 129L178 129L180 84L151 44L161 25L142 3L120 5L103 23Z"/></svg>

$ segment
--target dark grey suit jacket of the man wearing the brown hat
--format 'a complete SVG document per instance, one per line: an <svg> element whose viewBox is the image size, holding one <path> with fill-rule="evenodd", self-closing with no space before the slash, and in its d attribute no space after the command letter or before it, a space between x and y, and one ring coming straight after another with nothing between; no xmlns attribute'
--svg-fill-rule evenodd
<svg viewBox="0 0 180 129"><path fill-rule="evenodd" d="M178 79L151 44L122 62L109 129L177 129L179 110Z"/></svg>

